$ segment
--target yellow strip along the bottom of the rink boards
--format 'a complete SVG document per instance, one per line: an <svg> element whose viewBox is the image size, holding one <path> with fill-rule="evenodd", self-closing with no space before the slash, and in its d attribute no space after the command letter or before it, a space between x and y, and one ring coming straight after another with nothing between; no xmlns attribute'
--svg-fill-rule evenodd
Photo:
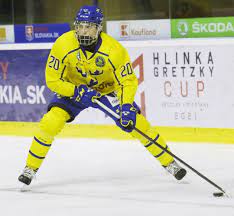
<svg viewBox="0 0 234 216"><path fill-rule="evenodd" d="M0 135L32 137L37 126L38 123L31 122L0 122ZM190 127L155 127L155 129L167 141L234 144L234 129ZM133 139L114 125L94 124L67 124L58 137Z"/></svg>

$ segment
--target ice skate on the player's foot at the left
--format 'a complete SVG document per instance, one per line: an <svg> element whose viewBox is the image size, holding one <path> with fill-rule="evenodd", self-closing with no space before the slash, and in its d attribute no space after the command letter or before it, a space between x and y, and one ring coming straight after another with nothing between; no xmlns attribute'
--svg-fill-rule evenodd
<svg viewBox="0 0 234 216"><path fill-rule="evenodd" d="M35 178L36 170L33 170L32 168L25 167L23 170L23 173L19 176L18 180L21 183L21 191L27 191L29 189L29 185L31 184L31 181Z"/></svg>

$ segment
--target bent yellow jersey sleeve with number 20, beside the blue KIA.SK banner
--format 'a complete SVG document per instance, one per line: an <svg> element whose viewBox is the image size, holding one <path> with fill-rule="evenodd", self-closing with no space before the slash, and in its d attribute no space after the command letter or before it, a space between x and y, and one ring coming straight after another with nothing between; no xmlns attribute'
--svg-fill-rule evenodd
<svg viewBox="0 0 234 216"><path fill-rule="evenodd" d="M46 63L45 78L46 84L51 91L71 97L74 95L75 85L63 80L63 75L66 73L68 66L67 51L64 47L66 47L66 44L58 38L50 51Z"/></svg>

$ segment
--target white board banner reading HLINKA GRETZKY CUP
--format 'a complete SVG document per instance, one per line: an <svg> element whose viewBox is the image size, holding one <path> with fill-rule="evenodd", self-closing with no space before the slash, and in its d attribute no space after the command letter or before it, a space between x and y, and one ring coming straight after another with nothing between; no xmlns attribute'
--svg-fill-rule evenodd
<svg viewBox="0 0 234 216"><path fill-rule="evenodd" d="M128 49L133 62L141 62L137 97L144 95L142 107L153 125L234 127L233 40L158 42Z"/></svg>

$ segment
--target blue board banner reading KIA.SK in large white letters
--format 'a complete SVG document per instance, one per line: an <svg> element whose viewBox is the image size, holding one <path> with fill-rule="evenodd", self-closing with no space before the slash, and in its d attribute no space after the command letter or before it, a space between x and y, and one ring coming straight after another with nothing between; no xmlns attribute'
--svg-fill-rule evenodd
<svg viewBox="0 0 234 216"><path fill-rule="evenodd" d="M52 93L45 86L49 50L0 51L0 121L39 121Z"/></svg>

